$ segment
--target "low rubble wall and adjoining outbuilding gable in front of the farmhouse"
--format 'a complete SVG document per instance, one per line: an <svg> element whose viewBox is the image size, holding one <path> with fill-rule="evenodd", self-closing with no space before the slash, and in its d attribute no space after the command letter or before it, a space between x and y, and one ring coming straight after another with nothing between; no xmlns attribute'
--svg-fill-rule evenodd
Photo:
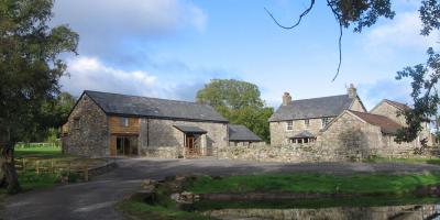
<svg viewBox="0 0 440 220"><path fill-rule="evenodd" d="M315 143L230 146L219 152L219 158L262 162L360 161L372 155L406 157L414 153L414 145L397 144L393 136L383 135L380 127L363 122L345 111L319 133Z"/></svg>

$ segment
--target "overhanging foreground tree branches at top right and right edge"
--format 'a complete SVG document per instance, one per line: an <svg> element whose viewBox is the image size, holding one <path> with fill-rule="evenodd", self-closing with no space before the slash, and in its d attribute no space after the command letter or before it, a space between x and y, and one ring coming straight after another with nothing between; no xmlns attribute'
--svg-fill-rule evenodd
<svg viewBox="0 0 440 220"><path fill-rule="evenodd" d="M354 32L362 32L364 28L370 28L376 23L377 19L383 16L393 19L395 12L392 10L391 0L326 0L327 6L333 13L339 23L339 65L333 80L338 77L342 63L341 41L343 29L354 26ZM271 18L283 29L293 29L300 24L300 21L314 8L315 0L310 0L309 7L299 15L299 19L292 26L279 24L275 16L268 11ZM422 29L421 35L429 35L433 30L440 29L440 0L420 1L420 20ZM397 142L414 141L421 131L421 123L429 122L436 117L438 105L440 102L436 85L440 77L440 55L432 47L428 48L428 61L426 64L419 64L414 67L406 67L398 72L396 79L411 78L411 98L414 108L405 111L404 116L408 127L398 131Z"/></svg>

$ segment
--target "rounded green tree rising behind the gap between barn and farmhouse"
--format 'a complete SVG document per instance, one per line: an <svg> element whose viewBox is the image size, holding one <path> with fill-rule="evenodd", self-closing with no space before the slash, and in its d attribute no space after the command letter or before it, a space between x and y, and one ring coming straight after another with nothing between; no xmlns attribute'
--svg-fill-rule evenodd
<svg viewBox="0 0 440 220"><path fill-rule="evenodd" d="M256 85L234 79L212 79L197 92L197 101L215 107L231 123L243 124L268 141L267 120L274 110L265 107L260 96Z"/></svg>

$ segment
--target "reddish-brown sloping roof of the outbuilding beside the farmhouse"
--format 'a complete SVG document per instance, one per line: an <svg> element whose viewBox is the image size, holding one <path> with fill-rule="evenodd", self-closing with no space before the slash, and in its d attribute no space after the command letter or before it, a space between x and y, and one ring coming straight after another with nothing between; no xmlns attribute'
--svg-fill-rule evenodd
<svg viewBox="0 0 440 220"><path fill-rule="evenodd" d="M361 118L362 120L366 121L370 124L381 127L382 133L385 134L395 134L397 130L402 128L400 124L384 116L359 112L359 111L350 111L350 112Z"/></svg>

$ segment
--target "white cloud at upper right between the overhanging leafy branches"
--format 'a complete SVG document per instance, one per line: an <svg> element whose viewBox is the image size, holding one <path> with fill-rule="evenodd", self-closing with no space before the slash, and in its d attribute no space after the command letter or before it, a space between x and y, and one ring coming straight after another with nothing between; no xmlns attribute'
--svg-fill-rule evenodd
<svg viewBox="0 0 440 220"><path fill-rule="evenodd" d="M366 34L367 50L394 51L396 48L421 48L438 45L439 32L421 36L418 12L398 13L394 20L372 28Z"/></svg>

